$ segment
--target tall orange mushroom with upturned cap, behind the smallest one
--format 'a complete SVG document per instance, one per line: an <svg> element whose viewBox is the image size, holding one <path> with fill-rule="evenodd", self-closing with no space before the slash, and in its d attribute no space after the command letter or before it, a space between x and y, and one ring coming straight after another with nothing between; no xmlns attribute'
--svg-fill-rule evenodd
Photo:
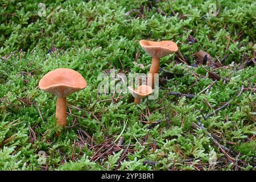
<svg viewBox="0 0 256 182"><path fill-rule="evenodd" d="M169 55L170 53L178 50L177 44L164 40L160 42L154 42L150 40L140 40L139 44L141 47L152 57L152 63L150 67L147 85L150 85L154 89L155 75L154 73L159 72L160 58Z"/></svg>

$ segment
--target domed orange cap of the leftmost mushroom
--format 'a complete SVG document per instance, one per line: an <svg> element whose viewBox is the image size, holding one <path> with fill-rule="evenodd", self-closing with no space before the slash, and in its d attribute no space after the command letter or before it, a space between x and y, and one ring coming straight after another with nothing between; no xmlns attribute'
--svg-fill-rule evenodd
<svg viewBox="0 0 256 182"><path fill-rule="evenodd" d="M40 89L55 94L57 97L68 97L86 86L84 78L75 70L68 68L57 68L48 72L39 81Z"/></svg>

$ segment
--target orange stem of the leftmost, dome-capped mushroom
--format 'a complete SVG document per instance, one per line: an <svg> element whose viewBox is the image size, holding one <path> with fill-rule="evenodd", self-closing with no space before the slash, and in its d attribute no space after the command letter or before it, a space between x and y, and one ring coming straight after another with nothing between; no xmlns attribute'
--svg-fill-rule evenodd
<svg viewBox="0 0 256 182"><path fill-rule="evenodd" d="M56 104L56 119L59 126L67 125L67 98L57 98Z"/></svg>

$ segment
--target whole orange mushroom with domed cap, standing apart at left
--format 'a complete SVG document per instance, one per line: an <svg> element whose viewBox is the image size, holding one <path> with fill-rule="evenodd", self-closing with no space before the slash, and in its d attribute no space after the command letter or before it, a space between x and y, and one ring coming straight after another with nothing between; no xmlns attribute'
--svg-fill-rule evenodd
<svg viewBox="0 0 256 182"><path fill-rule="evenodd" d="M75 70L68 68L57 68L48 72L39 81L40 89L57 96L56 119L59 126L67 125L67 97L86 86L85 79Z"/></svg>

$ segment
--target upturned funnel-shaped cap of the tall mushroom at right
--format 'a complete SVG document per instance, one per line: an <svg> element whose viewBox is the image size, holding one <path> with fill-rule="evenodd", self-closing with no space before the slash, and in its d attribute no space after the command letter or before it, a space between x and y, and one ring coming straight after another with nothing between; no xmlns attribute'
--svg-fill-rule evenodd
<svg viewBox="0 0 256 182"><path fill-rule="evenodd" d="M160 42L140 40L139 44L151 57L164 57L178 50L176 43L167 40Z"/></svg>

